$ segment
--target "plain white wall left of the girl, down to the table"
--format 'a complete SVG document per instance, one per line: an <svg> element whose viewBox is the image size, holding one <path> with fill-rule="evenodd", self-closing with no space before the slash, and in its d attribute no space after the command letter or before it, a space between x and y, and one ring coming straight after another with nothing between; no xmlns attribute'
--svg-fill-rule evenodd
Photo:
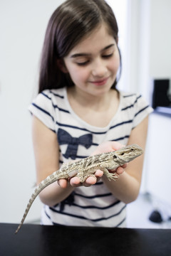
<svg viewBox="0 0 171 256"><path fill-rule="evenodd" d="M57 4L56 4L57 3ZM0 3L0 222L19 223L36 181L28 113L43 37L61 1ZM36 200L27 220L38 218Z"/></svg>

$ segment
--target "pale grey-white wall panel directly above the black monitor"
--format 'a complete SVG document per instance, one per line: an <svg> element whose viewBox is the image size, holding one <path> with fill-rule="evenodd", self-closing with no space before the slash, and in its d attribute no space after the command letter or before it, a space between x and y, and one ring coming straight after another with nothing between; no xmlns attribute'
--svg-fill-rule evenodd
<svg viewBox="0 0 171 256"><path fill-rule="evenodd" d="M171 78L171 1L151 1L150 75Z"/></svg>

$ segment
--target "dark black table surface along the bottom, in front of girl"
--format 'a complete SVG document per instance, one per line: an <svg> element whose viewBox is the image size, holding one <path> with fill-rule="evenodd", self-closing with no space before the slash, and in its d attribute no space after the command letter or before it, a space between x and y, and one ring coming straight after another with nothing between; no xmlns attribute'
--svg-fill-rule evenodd
<svg viewBox="0 0 171 256"><path fill-rule="evenodd" d="M171 230L0 223L1 256L171 255Z"/></svg>

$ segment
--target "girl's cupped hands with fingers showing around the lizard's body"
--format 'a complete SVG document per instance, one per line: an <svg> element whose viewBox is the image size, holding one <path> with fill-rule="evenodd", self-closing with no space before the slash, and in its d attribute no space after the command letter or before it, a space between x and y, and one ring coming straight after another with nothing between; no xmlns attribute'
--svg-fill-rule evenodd
<svg viewBox="0 0 171 256"><path fill-rule="evenodd" d="M120 144L118 142L103 142L97 147L97 149L95 149L95 151L93 152L93 155L101 154L109 151L115 151L115 150L121 149L123 146L124 146L123 144ZM120 174L123 174L123 171L126 166L127 164L124 164L123 166L118 167L118 169L110 170L110 171L115 171L116 174L120 175ZM61 188L66 188L66 186L68 185L68 182L73 187L78 187L78 186L88 187L98 182L102 176L103 176L103 171L97 170L95 171L95 177L92 177L92 176L88 177L84 183L81 183L78 177L73 177L69 181L67 181L66 179L61 179L58 181L58 184L59 186L61 186Z"/></svg>

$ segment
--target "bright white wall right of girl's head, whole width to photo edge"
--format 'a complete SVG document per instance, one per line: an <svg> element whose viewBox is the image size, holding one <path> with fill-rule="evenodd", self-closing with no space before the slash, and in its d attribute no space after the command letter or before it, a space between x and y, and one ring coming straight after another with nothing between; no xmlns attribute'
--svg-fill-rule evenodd
<svg viewBox="0 0 171 256"><path fill-rule="evenodd" d="M171 78L171 1L130 0L128 7L130 88L148 99L151 79Z"/></svg>

